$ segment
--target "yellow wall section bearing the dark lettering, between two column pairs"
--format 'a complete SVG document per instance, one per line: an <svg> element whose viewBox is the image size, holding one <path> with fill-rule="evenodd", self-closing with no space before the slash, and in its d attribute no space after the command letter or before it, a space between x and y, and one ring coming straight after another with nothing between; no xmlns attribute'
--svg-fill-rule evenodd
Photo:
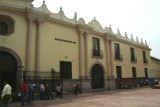
<svg viewBox="0 0 160 107"><path fill-rule="evenodd" d="M57 41L55 38L74 41L76 44ZM60 61L72 62L72 77L79 77L79 44L75 28L46 22L41 30L40 69L60 71Z"/></svg>

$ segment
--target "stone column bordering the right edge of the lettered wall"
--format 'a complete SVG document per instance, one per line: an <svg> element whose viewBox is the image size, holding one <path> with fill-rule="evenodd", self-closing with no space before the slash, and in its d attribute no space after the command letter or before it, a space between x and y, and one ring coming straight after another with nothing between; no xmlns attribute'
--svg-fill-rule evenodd
<svg viewBox="0 0 160 107"><path fill-rule="evenodd" d="M83 78L83 62L84 62L83 34L79 32L79 77Z"/></svg>

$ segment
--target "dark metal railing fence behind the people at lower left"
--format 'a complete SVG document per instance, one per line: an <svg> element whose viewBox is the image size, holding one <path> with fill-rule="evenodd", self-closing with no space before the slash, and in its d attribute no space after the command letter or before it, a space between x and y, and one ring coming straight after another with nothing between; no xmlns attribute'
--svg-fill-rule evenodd
<svg viewBox="0 0 160 107"><path fill-rule="evenodd" d="M55 91L56 85L61 84L63 88L63 78L60 72L47 72L47 71L23 71L23 80L29 85L32 82L36 84L35 93L39 93L40 85L48 85L51 91Z"/></svg>

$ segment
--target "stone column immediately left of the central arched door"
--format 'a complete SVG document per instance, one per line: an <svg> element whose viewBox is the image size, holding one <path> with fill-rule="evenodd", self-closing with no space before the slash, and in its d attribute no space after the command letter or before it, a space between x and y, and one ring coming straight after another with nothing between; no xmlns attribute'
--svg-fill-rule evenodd
<svg viewBox="0 0 160 107"><path fill-rule="evenodd" d="M86 76L86 79L89 79L88 35L89 33L85 33L85 76Z"/></svg>

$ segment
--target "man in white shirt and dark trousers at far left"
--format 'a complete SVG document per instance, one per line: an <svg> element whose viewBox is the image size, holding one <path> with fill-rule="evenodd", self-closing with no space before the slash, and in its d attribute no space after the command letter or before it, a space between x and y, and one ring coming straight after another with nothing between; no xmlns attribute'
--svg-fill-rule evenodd
<svg viewBox="0 0 160 107"><path fill-rule="evenodd" d="M11 100L11 90L12 87L7 83L7 81L3 81L4 88L2 90L2 103L7 107L8 102Z"/></svg>

